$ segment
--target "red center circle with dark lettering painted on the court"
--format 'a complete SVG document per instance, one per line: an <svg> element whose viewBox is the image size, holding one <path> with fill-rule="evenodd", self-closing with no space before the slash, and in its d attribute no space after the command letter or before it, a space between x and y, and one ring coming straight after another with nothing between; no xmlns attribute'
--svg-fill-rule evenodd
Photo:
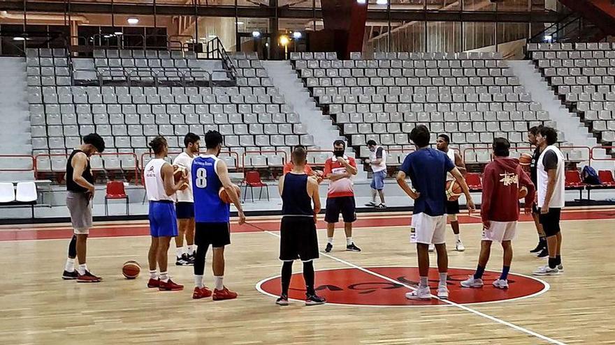
<svg viewBox="0 0 615 345"><path fill-rule="evenodd" d="M298 266L298 265L297 265ZM431 300L408 300L405 293L407 286L416 287L419 282L419 269L416 267L370 267L369 272L358 268L335 268L316 272L316 289L320 296L329 303L339 305L369 306L423 306L447 305L447 302L432 298ZM464 288L459 283L468 279L474 270L449 268L449 300L457 304L499 302L528 298L544 293L549 284L533 277L509 274L509 289L496 289L492 283L500 273L485 271L484 286L479 289ZM392 282L389 279L392 279ZM280 296L280 277L264 279L256 289L270 296ZM429 270L429 286L433 294L438 284L437 270ZM305 282L301 273L295 273L291 279L289 298L305 299Z"/></svg>

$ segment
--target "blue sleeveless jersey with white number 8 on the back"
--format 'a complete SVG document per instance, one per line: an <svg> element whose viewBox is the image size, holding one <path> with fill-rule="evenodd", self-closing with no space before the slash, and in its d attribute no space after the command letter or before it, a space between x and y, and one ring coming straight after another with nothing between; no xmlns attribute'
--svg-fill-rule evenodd
<svg viewBox="0 0 615 345"><path fill-rule="evenodd" d="M215 155L201 155L192 161L194 220L197 223L228 223L231 205L220 200L222 183L218 178Z"/></svg>

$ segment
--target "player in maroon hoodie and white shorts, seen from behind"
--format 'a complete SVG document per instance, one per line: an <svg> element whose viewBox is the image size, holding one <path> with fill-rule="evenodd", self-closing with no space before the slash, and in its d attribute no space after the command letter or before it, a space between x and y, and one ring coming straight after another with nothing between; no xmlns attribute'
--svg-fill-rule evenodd
<svg viewBox="0 0 615 345"><path fill-rule="evenodd" d="M519 220L519 188L526 187L525 213L529 215L534 203L534 184L530 176L519 165L519 160L508 158L510 142L505 138L493 141L493 162L487 164L483 174L481 217L483 237L476 273L461 282L461 286L479 288L483 286L483 273L491 254L491 243L502 244L504 264L500 278L493 282L497 289L508 289L508 272L512 262L512 240L516 236Z"/></svg>

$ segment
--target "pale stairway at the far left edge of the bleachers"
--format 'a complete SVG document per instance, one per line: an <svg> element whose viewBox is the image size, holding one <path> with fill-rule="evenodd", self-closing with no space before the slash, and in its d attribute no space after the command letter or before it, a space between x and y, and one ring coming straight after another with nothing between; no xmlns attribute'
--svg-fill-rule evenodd
<svg viewBox="0 0 615 345"><path fill-rule="evenodd" d="M0 58L0 155L30 155L30 118L23 58ZM32 169L25 159L0 159L0 169ZM31 171L0 172L0 181L31 180Z"/></svg>

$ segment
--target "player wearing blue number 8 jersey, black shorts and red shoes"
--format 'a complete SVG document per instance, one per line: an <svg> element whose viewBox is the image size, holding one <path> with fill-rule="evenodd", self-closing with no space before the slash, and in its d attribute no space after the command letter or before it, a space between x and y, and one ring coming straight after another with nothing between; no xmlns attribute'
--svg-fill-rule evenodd
<svg viewBox="0 0 615 345"><path fill-rule="evenodd" d="M222 135L215 130L205 134L205 155L192 161L192 187L194 192L194 218L196 220L196 259L194 260L194 292L192 298L198 300L212 296L212 291L203 286L205 254L208 247L213 248L212 270L215 289L213 300L231 300L237 293L224 286L224 246L231 244L229 218L231 206L220 199L220 188L224 187L237 208L239 224L245 222L243 208L237 191L229 178L226 163L218 158L222 150Z"/></svg>

